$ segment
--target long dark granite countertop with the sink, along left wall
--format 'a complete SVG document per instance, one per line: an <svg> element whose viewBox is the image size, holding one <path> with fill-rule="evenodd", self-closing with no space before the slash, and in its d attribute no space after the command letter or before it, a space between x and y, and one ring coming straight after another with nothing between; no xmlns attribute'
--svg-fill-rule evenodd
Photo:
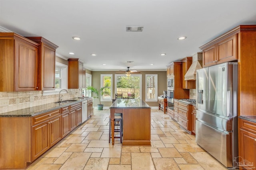
<svg viewBox="0 0 256 170"><path fill-rule="evenodd" d="M39 105L39 106L34 106L34 107L28 107L25 109L9 111L6 113L0 113L0 117L31 117L31 116L45 113L47 111L59 109L64 106L76 104L78 102L82 102L87 99L90 99L90 98L72 98L72 99L68 99L68 100L76 100L76 101L70 102L70 103L49 103L49 104L44 104L44 105Z"/></svg>

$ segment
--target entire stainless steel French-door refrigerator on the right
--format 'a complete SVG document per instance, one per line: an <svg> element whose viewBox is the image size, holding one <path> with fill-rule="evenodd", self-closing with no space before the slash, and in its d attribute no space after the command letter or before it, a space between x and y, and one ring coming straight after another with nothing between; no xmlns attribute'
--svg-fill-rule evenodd
<svg viewBox="0 0 256 170"><path fill-rule="evenodd" d="M238 156L237 63L196 72L196 143L229 169Z"/></svg>

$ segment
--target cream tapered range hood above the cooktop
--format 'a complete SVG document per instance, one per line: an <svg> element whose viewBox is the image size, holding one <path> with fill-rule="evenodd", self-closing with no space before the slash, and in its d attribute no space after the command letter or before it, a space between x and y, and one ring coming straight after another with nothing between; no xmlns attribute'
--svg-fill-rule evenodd
<svg viewBox="0 0 256 170"><path fill-rule="evenodd" d="M184 76L184 80L196 80L196 70L202 68L202 52L192 55L192 64Z"/></svg>

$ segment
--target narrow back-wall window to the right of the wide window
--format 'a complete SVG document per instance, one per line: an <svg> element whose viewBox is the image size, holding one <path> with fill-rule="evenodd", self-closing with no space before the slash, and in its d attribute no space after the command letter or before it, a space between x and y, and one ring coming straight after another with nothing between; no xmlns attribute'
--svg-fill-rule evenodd
<svg viewBox="0 0 256 170"><path fill-rule="evenodd" d="M157 74L146 74L146 100L157 102Z"/></svg>

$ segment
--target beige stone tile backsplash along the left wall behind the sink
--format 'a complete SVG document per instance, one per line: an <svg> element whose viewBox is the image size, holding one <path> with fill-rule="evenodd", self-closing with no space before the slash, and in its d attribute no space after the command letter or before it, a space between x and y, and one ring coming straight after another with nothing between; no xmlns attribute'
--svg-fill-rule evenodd
<svg viewBox="0 0 256 170"><path fill-rule="evenodd" d="M63 100L76 98L80 96L80 90L68 89L68 93L61 95L63 95ZM43 96L42 91L0 92L0 113L57 102L58 100L59 94Z"/></svg>

